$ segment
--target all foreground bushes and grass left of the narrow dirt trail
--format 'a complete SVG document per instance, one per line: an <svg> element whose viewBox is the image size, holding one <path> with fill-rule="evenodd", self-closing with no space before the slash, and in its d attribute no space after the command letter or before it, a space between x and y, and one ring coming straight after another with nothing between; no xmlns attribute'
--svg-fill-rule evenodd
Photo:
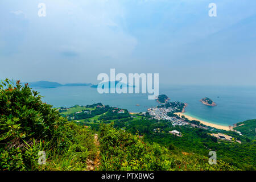
<svg viewBox="0 0 256 182"><path fill-rule="evenodd" d="M19 81L0 84L0 170L86 169L97 151L92 131L68 123L41 98Z"/></svg>

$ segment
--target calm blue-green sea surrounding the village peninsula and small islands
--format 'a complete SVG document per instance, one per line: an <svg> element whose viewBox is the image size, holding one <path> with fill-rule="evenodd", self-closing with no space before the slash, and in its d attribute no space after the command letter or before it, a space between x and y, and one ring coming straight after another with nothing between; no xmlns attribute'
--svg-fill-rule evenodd
<svg viewBox="0 0 256 182"><path fill-rule="evenodd" d="M101 102L117 106L130 112L147 111L158 104L148 100L147 94L99 94L96 88L89 86L58 87L34 89L44 96L43 101L53 107L71 107ZM234 123L256 118L256 87L236 86L160 86L159 94L166 94L170 101L185 102L186 114L191 117L218 125ZM217 106L202 104L199 100L209 97ZM139 106L136 106L136 105Z"/></svg>

